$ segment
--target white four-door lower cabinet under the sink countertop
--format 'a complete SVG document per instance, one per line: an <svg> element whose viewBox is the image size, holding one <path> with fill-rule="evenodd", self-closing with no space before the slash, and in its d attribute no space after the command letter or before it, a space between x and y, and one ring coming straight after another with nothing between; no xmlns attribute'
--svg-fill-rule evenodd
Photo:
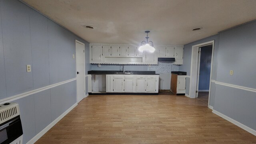
<svg viewBox="0 0 256 144"><path fill-rule="evenodd" d="M107 74L106 92L158 93L158 75Z"/></svg>

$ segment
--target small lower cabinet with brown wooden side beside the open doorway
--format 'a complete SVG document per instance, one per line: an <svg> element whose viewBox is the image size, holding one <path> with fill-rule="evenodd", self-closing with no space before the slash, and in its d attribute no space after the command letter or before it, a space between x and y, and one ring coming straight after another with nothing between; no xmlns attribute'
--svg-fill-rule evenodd
<svg viewBox="0 0 256 144"><path fill-rule="evenodd" d="M171 91L174 94L185 94L185 92L186 92L186 76L172 74Z"/></svg>

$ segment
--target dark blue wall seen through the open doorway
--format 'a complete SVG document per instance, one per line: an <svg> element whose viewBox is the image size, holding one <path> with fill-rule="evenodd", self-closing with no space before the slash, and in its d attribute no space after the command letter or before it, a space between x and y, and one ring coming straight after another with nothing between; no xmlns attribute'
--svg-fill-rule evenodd
<svg viewBox="0 0 256 144"><path fill-rule="evenodd" d="M198 90L209 90L212 61L212 45L201 47Z"/></svg>

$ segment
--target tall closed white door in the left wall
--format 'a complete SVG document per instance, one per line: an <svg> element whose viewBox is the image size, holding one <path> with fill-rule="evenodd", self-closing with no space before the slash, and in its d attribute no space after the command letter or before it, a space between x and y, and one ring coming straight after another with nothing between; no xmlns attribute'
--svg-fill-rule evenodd
<svg viewBox="0 0 256 144"><path fill-rule="evenodd" d="M84 43L76 40L76 102L85 97Z"/></svg>

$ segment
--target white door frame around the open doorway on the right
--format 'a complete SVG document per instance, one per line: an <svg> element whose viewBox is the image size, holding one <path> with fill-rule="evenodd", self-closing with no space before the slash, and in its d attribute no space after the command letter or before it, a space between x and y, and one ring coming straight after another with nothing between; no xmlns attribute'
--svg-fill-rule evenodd
<svg viewBox="0 0 256 144"><path fill-rule="evenodd" d="M198 84L198 58L199 53L198 50L202 46L208 46L212 44L212 58L211 58L211 70L210 70L210 85L209 85L209 97L208 97L208 107L210 104L210 94L211 94L211 80L212 80L212 64L213 64L213 56L214 56L214 40L204 42L201 44L196 44L192 46L192 54L191 54L191 67L190 67L190 86L189 86L189 97L196 98L196 89Z"/></svg>

